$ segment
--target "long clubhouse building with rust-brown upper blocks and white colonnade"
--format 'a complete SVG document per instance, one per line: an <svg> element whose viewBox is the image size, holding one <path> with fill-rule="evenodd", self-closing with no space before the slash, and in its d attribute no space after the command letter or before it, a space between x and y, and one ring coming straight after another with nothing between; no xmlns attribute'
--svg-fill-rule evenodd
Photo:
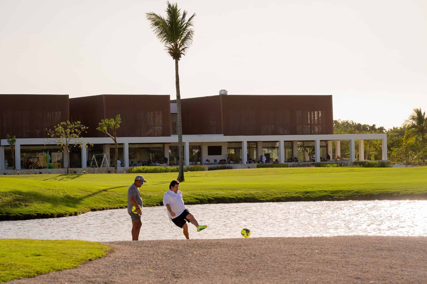
<svg viewBox="0 0 427 284"><path fill-rule="evenodd" d="M387 159L386 134L333 134L331 95L219 95L181 99L184 164L209 160L248 164L261 156L292 161L363 161L363 140L381 139ZM16 136L15 168L36 169L40 156L49 153L51 165L65 168L67 155L47 131L66 120L88 126L83 140L93 144L70 152L70 168L86 168L94 155L98 166L114 166L114 141L98 131L104 118L120 114L118 158L123 167L146 164L177 165L178 121L175 100L169 95L0 95L0 170L10 170L11 147L6 135ZM342 157L340 143L349 143ZM97 156L97 157L98 157ZM248 161L249 159L249 161ZM89 160L89 161L88 161ZM295 161L295 158L294 158Z"/></svg>

